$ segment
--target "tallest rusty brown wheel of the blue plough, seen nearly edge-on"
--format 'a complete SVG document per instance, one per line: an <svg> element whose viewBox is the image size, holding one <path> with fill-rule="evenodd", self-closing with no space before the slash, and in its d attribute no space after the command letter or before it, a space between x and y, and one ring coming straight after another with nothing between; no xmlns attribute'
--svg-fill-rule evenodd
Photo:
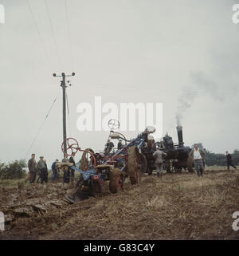
<svg viewBox="0 0 239 256"><path fill-rule="evenodd" d="M127 167L131 184L134 185L140 183L142 160L137 146L131 146L128 149Z"/></svg>

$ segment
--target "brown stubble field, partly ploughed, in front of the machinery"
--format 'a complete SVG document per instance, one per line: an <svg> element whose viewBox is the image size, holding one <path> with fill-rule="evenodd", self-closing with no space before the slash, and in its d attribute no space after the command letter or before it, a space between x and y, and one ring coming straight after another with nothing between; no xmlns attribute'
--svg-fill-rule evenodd
<svg viewBox="0 0 239 256"><path fill-rule="evenodd" d="M62 183L1 188L0 239L238 239L239 170L144 175L116 195L70 205Z"/></svg>

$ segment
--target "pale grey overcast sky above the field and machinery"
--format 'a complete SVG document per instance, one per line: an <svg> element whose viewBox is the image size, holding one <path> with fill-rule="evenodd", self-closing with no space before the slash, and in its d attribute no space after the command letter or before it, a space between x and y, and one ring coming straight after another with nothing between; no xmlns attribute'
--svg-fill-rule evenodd
<svg viewBox="0 0 239 256"><path fill-rule="evenodd" d="M118 106L163 103L163 134L175 143L179 120L185 145L202 142L217 153L239 149L236 1L0 3L0 161L28 160L31 153L49 163L62 158L61 78L53 77L62 72L76 73L67 88L67 135L81 148L98 150L108 139L108 132L76 128L78 104L94 106L101 96L102 104Z"/></svg>

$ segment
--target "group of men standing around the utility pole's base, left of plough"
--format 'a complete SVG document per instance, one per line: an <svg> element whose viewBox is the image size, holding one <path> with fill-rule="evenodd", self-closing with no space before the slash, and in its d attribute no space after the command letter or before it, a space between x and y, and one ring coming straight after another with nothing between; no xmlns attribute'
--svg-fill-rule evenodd
<svg viewBox="0 0 239 256"><path fill-rule="evenodd" d="M31 159L28 161L29 183L35 183L37 175L38 175L37 183L39 182L39 179L41 180L41 184L44 182L47 183L48 167L46 164L46 160L44 159L44 156L40 156L40 160L37 162L35 160L35 157L36 155L32 154ZM69 160L67 158L63 159L62 162L73 163L72 165L76 167L76 163L72 158L72 156L69 158ZM53 175L51 179L52 182L55 182L60 179L60 167L57 166L57 163L59 163L59 160L55 160L51 167L53 171ZM72 168L70 167L66 168L63 175L64 183L73 182L74 175L75 175L75 171L72 170Z"/></svg>

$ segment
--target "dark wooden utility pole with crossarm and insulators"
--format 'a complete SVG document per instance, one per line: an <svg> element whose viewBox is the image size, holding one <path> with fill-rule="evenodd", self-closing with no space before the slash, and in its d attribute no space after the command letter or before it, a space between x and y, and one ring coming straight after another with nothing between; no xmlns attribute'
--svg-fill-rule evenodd
<svg viewBox="0 0 239 256"><path fill-rule="evenodd" d="M66 111L65 111L65 89L67 88L67 85L65 84L65 77L73 77L75 76L75 73L72 73L71 75L66 75L65 73L61 73L61 76L57 76L56 73L53 73L53 77L61 77L62 81L61 81L61 87L62 87L62 106L63 106L63 141L66 140ZM69 83L69 81L67 81ZM69 86L71 86L71 84L69 84ZM64 143L64 157L66 155L66 141Z"/></svg>

